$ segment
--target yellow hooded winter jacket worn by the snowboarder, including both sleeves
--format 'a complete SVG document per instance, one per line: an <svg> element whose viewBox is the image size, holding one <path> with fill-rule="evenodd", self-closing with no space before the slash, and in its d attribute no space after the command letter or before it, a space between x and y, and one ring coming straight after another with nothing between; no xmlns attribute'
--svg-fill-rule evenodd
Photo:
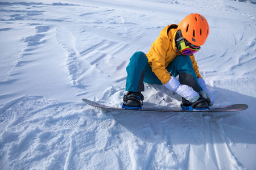
<svg viewBox="0 0 256 170"><path fill-rule="evenodd" d="M171 29L167 35L169 27ZM166 84L171 79L171 75L166 70L166 67L174 60L174 58L181 55L176 51L176 32L177 25L168 25L160 32L160 36L153 42L148 54L146 54L148 63L152 67L152 71L163 84ZM197 66L195 56L191 55L189 57L191 58L196 75L199 76L199 78L202 78L198 70L199 67Z"/></svg>

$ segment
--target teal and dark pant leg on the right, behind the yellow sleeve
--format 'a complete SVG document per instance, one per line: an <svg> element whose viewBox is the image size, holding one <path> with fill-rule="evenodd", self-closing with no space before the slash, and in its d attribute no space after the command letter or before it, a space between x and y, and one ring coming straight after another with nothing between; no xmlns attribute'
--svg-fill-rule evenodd
<svg viewBox="0 0 256 170"><path fill-rule="evenodd" d="M189 56L177 56L174 61L168 65L167 70L175 77L179 75L181 84L188 85L197 92L202 90L197 81L197 75L193 69L193 64Z"/></svg>

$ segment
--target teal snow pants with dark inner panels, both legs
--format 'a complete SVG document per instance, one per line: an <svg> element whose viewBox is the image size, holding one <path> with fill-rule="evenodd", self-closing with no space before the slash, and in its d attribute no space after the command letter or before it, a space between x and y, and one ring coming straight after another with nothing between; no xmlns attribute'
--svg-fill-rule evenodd
<svg viewBox="0 0 256 170"><path fill-rule="evenodd" d="M192 87L199 92L202 88L197 82L197 75L193 69L192 61L189 56L177 56L166 68L173 76L179 75L179 82ZM126 91L142 92L144 91L144 83L162 84L151 66L148 64L146 54L136 52L131 56L130 63L126 67Z"/></svg>

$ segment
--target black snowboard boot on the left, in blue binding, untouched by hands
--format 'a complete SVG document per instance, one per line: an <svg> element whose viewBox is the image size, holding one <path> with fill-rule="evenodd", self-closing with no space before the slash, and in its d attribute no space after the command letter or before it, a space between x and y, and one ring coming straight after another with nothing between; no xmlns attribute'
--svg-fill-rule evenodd
<svg viewBox="0 0 256 170"><path fill-rule="evenodd" d="M123 109L142 109L144 96L141 92L127 92L123 96Z"/></svg>

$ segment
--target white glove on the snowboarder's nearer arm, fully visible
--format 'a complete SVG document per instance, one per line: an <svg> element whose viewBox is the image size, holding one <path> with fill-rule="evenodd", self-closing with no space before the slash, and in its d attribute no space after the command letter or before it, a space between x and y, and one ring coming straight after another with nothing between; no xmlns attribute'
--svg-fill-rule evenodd
<svg viewBox="0 0 256 170"><path fill-rule="evenodd" d="M164 86L166 86L169 90L176 92L176 94L184 97L191 103L194 103L200 97L192 87L180 84L179 80L177 80L174 76L172 76L171 79L164 84Z"/></svg>

